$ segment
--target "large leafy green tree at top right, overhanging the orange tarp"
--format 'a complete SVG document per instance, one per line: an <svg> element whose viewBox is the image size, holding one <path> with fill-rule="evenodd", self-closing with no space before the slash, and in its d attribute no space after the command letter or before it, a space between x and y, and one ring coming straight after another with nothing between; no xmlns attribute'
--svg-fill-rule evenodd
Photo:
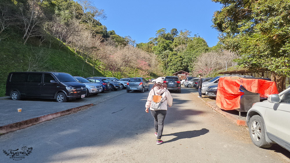
<svg viewBox="0 0 290 163"><path fill-rule="evenodd" d="M223 4L213 15L221 43L240 55L238 64L267 68L278 91L290 75L289 0L212 0Z"/></svg>

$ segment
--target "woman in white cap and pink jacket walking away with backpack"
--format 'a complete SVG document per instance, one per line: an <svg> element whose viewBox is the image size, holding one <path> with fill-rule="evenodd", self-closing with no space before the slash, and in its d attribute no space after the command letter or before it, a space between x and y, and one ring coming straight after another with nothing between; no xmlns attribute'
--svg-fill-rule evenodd
<svg viewBox="0 0 290 163"><path fill-rule="evenodd" d="M157 137L156 144L161 144L163 142L161 140L161 137L163 132L164 119L167 113L167 104L170 107L172 106L173 99L170 92L166 88L167 85L163 83L163 79L161 77L157 78L156 83L153 85L153 88L149 92L145 105L145 111L148 113L148 109L150 108L151 114L154 118L155 136ZM159 98L161 104L159 103L159 101L154 102L153 96L156 97L154 97L154 100Z"/></svg>

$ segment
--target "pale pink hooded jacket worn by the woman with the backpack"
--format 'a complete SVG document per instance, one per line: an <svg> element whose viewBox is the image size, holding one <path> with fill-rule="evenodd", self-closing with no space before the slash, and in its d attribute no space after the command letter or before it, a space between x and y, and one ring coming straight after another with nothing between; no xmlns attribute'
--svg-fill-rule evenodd
<svg viewBox="0 0 290 163"><path fill-rule="evenodd" d="M163 98L162 104L161 104L160 109L158 109L158 110L167 110L167 104L168 104L168 106L172 106L173 98L172 98L170 92L166 88L157 89L157 87L154 87L153 89L155 91L155 95L160 96L160 94L162 94L164 92L162 94L162 98ZM154 110L151 108L151 99L152 99L152 96L154 95L153 89L150 90L148 98L147 98L147 102L145 104L146 109L150 108L150 110Z"/></svg>

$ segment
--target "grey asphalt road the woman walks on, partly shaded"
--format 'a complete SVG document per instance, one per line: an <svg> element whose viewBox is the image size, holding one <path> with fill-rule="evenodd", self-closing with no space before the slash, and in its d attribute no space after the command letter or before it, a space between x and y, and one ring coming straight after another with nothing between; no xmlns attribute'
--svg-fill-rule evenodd
<svg viewBox="0 0 290 163"><path fill-rule="evenodd" d="M145 112L148 92L119 94L1 135L1 150L27 146L32 152L15 160L2 153L0 162L289 162L289 151L278 145L258 148L247 127L237 126L186 89L172 93L164 143L157 145L153 117Z"/></svg>

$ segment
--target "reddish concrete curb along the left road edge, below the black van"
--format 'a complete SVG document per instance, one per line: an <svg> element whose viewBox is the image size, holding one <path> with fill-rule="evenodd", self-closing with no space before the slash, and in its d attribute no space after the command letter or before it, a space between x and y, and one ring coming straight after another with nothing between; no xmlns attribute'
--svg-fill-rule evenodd
<svg viewBox="0 0 290 163"><path fill-rule="evenodd" d="M34 124L40 123L40 122L44 122L44 121L47 121L47 120L51 120L53 118L64 116L64 115L67 115L69 113L72 113L72 112L75 112L75 111L79 111L81 109L88 108L88 107L91 107L91 106L93 106L93 104L86 104L86 105L83 105L83 106L67 109L67 110L64 110L64 111L59 111L59 112L47 114L47 115L44 115L44 116L31 118L31 119L28 119L28 120L23 120L21 122L7 124L5 126L0 126L0 133L8 133L10 131L23 129L25 127L29 127L29 126L32 126Z"/></svg>

